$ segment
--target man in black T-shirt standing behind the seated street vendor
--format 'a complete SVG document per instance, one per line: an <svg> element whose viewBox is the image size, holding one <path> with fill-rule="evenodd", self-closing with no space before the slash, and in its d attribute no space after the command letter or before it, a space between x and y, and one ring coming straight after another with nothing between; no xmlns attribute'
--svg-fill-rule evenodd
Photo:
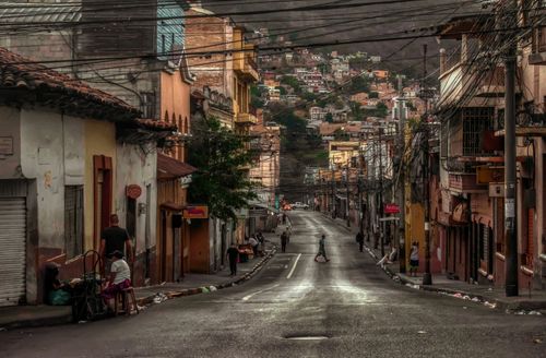
<svg viewBox="0 0 546 358"><path fill-rule="evenodd" d="M116 251L123 253L129 263L133 262L131 237L126 229L119 227L118 215L111 214L110 226L100 234L100 248L98 253L103 259L103 264L106 263L106 260L110 260Z"/></svg>

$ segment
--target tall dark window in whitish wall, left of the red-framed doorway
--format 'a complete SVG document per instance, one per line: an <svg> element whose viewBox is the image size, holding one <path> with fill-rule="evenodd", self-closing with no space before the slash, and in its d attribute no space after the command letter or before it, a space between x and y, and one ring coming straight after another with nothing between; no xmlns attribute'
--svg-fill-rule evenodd
<svg viewBox="0 0 546 358"><path fill-rule="evenodd" d="M67 259L83 253L83 186L64 187L64 249Z"/></svg>

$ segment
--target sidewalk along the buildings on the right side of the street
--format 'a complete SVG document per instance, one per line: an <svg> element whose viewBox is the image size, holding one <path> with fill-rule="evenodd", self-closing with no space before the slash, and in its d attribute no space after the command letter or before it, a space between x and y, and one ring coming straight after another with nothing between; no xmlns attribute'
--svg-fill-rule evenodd
<svg viewBox="0 0 546 358"><path fill-rule="evenodd" d="M351 235L356 235L358 230L358 228L355 227L347 228L346 223L342 219L330 219L337 226L346 229ZM365 249L376 262L379 262L382 258L381 250L373 249L371 244L371 241L365 241ZM389 253L388 248L385 248L385 253ZM462 300L470 300L506 312L538 314L539 311L544 311L543 313L546 314L545 290L532 290L531 295L527 290L520 290L520 296L518 297L506 297L502 287L494 287L492 285L472 285L462 281L449 279L441 274L432 275L432 285L423 285L423 273L419 273L417 277L410 277L406 274L401 274L397 261L381 265L381 268L395 282L414 289L437 293Z"/></svg>

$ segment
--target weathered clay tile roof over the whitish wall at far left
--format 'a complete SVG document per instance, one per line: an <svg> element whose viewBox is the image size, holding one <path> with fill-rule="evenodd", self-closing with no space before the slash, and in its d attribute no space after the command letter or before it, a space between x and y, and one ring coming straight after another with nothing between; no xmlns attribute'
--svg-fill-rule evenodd
<svg viewBox="0 0 546 358"><path fill-rule="evenodd" d="M35 94L35 102L59 106L67 114L109 120L133 119L140 111L123 100L84 82L48 69L0 47L0 91L17 100L21 92ZM94 116L93 116L94 115Z"/></svg>

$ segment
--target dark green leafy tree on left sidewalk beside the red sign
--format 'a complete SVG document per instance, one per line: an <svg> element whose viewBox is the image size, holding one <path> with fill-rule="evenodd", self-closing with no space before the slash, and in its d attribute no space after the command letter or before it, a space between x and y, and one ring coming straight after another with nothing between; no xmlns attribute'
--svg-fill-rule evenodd
<svg viewBox="0 0 546 358"><path fill-rule="evenodd" d="M190 202L206 203L212 216L236 219L235 212L256 199L244 169L252 162L246 140L215 118L193 123L189 163L199 168L189 190Z"/></svg>

